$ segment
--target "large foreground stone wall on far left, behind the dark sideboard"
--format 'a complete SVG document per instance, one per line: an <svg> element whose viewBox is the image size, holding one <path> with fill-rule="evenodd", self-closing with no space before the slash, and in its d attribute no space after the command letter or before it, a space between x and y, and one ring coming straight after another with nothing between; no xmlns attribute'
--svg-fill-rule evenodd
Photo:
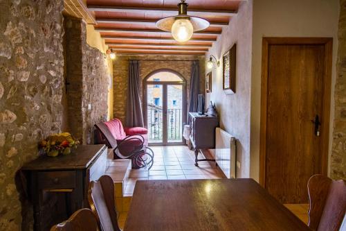
<svg viewBox="0 0 346 231"><path fill-rule="evenodd" d="M62 8L62 0L0 1L0 230L20 230L21 214L32 221L15 174L37 157L40 139L60 132Z"/></svg>

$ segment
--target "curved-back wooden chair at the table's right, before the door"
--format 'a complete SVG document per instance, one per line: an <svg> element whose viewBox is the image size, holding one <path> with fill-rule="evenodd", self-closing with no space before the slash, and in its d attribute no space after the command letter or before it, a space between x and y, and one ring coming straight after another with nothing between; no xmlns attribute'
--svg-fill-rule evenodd
<svg viewBox="0 0 346 231"><path fill-rule="evenodd" d="M346 184L326 176L311 176L309 191L309 228L338 231L346 212Z"/></svg>

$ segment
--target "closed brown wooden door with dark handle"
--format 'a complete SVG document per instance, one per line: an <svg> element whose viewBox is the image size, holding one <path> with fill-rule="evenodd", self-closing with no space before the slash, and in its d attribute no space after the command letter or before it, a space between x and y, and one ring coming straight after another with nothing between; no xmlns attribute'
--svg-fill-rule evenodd
<svg viewBox="0 0 346 231"><path fill-rule="evenodd" d="M262 184L282 203L308 203L307 181L327 173L331 40L264 38L264 46Z"/></svg>

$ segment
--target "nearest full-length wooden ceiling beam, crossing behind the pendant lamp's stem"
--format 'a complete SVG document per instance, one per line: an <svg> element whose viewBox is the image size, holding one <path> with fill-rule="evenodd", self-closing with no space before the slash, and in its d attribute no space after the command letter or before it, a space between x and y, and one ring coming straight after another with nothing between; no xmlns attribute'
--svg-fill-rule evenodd
<svg viewBox="0 0 346 231"><path fill-rule="evenodd" d="M172 13L176 12L178 15L178 8L156 8L156 7L133 7L133 6L97 6L88 5L89 10L93 11L107 11L107 12L163 12ZM210 9L188 9L188 13L193 15L215 15L215 16L233 16L237 14L236 10L210 10Z"/></svg>

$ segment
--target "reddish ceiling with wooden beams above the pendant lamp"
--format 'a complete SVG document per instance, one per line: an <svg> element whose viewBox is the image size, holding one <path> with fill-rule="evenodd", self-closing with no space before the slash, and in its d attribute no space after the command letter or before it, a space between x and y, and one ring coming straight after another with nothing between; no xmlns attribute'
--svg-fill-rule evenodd
<svg viewBox="0 0 346 231"><path fill-rule="evenodd" d="M244 1L244 0L242 0ZM95 30L116 53L204 54L217 40L222 28L237 13L240 0L187 0L188 15L210 22L183 44L155 22L178 14L180 0L86 0L95 17Z"/></svg>

